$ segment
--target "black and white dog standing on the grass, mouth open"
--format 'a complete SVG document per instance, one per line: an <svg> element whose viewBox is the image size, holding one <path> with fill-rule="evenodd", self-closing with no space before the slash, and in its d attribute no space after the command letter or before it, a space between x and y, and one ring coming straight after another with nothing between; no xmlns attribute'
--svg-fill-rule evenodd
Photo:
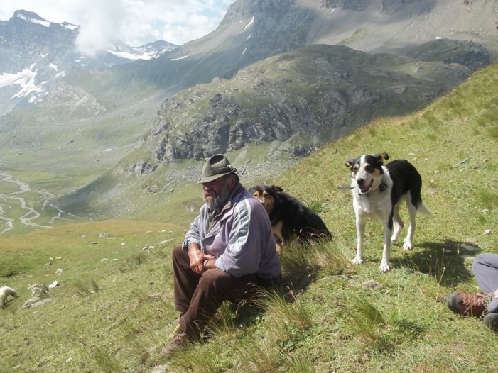
<svg viewBox="0 0 498 373"><path fill-rule="evenodd" d="M351 187L353 208L356 214L357 251L354 264L363 262L363 238L367 218L373 218L384 224L384 250L379 269L389 271L391 256L391 240L399 237L404 227L399 216L399 204L406 201L410 226L404 240L403 249L411 250L415 234L416 213L432 215L423 204L421 197L422 178L410 162L393 160L384 165L389 155L362 155L357 159L347 160L346 166L351 169ZM394 232L391 235L394 222Z"/></svg>

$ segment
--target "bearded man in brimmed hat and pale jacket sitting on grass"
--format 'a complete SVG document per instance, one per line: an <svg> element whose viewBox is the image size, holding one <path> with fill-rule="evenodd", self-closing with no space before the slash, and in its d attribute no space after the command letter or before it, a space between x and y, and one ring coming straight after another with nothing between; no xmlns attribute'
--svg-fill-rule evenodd
<svg viewBox="0 0 498 373"><path fill-rule="evenodd" d="M205 204L183 245L173 248L175 308L180 319L161 356L197 340L223 301L253 298L281 280L281 264L264 206L239 182L224 155L206 158Z"/></svg>

